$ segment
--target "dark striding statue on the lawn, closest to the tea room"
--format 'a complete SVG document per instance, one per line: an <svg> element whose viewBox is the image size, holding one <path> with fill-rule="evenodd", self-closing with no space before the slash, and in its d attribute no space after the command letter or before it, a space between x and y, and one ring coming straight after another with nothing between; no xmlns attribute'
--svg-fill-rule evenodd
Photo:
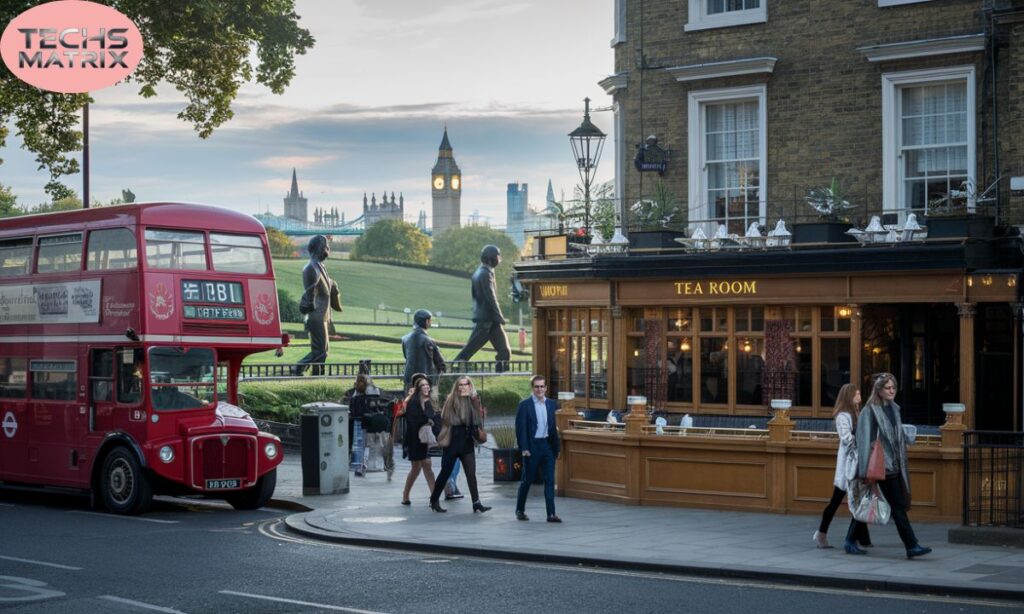
<svg viewBox="0 0 1024 614"><path fill-rule="evenodd" d="M509 340L505 335L505 316L498 306L498 290L495 286L495 267L502 262L502 252L498 246L483 246L480 251L480 266L473 273L473 332L456 360L469 360L483 344L490 342L497 355L495 371L504 372L509 368Z"/></svg>

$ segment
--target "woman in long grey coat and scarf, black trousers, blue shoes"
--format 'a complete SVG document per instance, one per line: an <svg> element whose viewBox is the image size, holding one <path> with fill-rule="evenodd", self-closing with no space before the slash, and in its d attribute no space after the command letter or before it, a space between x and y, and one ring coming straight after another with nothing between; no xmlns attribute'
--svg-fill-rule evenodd
<svg viewBox="0 0 1024 614"><path fill-rule="evenodd" d="M863 480L867 476L871 445L879 440L886 463L886 478L879 482L879 488L892 508L893 522L906 547L906 558L912 559L927 555L932 549L918 543L918 536L913 534L910 519L906 516L910 508L910 473L906 462L906 435L903 433L899 405L895 401L896 389L896 378L892 374L874 377L871 396L857 420L857 477ZM853 538L852 532L851 524L847 543Z"/></svg>

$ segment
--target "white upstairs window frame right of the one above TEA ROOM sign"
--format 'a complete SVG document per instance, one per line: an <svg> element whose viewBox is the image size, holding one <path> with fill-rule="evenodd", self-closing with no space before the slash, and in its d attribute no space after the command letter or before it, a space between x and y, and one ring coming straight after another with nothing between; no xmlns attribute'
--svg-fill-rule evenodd
<svg viewBox="0 0 1024 614"><path fill-rule="evenodd" d="M903 187L903 165L897 150L902 140L899 89L908 85L957 80L967 82L967 181L968 185L976 185L978 109L975 100L974 67L958 65L882 75L882 212L897 214L900 223L906 217L906 207L900 196ZM968 207L974 209L973 195Z"/></svg>

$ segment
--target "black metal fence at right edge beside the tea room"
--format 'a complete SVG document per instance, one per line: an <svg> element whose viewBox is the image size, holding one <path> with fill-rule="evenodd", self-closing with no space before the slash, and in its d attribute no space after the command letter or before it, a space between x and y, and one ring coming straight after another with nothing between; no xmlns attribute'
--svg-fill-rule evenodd
<svg viewBox="0 0 1024 614"><path fill-rule="evenodd" d="M964 525L1024 528L1024 433L964 435Z"/></svg>

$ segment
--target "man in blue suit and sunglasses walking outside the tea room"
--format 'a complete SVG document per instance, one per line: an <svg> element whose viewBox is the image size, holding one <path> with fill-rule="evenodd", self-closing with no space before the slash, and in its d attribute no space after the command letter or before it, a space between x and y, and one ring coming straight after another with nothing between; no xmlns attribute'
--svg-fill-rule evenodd
<svg viewBox="0 0 1024 614"><path fill-rule="evenodd" d="M516 520L529 520L526 516L526 495L539 469L544 471L544 502L548 509L548 522L561 522L555 515L555 459L561 449L555 411L558 405L547 398L544 376L534 376L529 381L532 394L519 403L515 413L515 435L522 452L522 481L515 499Z"/></svg>

